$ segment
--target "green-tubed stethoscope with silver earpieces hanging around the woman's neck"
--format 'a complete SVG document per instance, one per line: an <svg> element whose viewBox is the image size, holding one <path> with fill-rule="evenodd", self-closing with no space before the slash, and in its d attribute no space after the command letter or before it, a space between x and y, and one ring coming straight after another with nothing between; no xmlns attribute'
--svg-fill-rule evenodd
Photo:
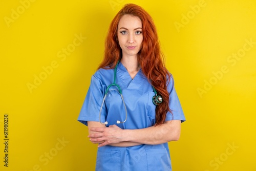
<svg viewBox="0 0 256 171"><path fill-rule="evenodd" d="M124 106L124 110L125 110L125 119L124 119L124 121L119 121L119 120L117 120L116 123L124 123L124 122L127 120L127 109L126 109L125 102L124 102L124 100L123 100L122 91L121 91L120 86L119 86L118 84L116 84L116 70L117 70L118 63L119 63L119 61L117 62L117 65L116 65L115 70L114 70L114 81L113 81L112 84L110 84L110 85L106 88L106 92L105 92L105 95L104 95L104 97L103 97L102 104L101 104L100 111L99 111L99 122L100 122L101 124L105 124L105 125L108 124L108 122L107 122L107 121L101 122L101 120L100 120L101 110L102 110L102 108L103 108L103 105L104 105L106 96L108 96L108 94L109 94L110 92L112 92L112 91L117 91L117 92L119 93L119 95L121 96L121 99L122 99L122 101L123 101L123 106ZM116 90L116 89L109 90L112 86L116 86L116 87L118 88L118 90ZM154 90L154 92L155 92L155 96L153 96L152 102L153 102L155 105L158 105L159 103L161 103L161 102L163 101L163 99L162 99L161 96L157 95L157 91L156 91L156 89L155 89L153 86L152 86L152 88L153 88L153 90Z"/></svg>

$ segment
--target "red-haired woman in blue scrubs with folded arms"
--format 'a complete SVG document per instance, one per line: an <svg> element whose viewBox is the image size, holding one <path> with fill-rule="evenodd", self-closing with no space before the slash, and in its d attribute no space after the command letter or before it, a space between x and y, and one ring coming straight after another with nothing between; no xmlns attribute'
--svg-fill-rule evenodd
<svg viewBox="0 0 256 171"><path fill-rule="evenodd" d="M141 7L127 4L113 19L78 120L99 144L96 170L172 170L167 142L179 139L185 117Z"/></svg>

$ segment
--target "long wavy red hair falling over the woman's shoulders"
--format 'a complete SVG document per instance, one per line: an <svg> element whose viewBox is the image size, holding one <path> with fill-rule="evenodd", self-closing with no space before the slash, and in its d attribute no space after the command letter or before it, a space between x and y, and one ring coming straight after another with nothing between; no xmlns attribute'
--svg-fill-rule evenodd
<svg viewBox="0 0 256 171"><path fill-rule="evenodd" d="M117 38L117 27L123 15L133 15L141 19L142 22L142 48L138 52L138 62L143 74L151 81L158 95L163 99L162 103L156 107L156 124L164 123L166 113L169 111L169 93L166 83L169 82L170 74L164 66L164 55L160 50L158 35L152 17L140 6L126 4L114 17L105 40L104 58L98 69L113 69L118 60L122 57L122 49Z"/></svg>

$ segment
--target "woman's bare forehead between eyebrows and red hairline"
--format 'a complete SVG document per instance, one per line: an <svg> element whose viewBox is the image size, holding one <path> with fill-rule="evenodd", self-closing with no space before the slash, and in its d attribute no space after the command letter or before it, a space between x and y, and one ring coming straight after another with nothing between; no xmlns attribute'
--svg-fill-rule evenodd
<svg viewBox="0 0 256 171"><path fill-rule="evenodd" d="M137 16L133 15L124 15L120 18L118 23L118 28L125 27L127 29L131 28L142 28L142 22L141 19Z"/></svg>

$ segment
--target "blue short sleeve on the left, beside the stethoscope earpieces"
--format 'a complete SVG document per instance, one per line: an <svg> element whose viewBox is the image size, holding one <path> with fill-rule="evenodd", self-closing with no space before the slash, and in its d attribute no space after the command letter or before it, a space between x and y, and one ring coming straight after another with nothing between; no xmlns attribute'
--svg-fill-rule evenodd
<svg viewBox="0 0 256 171"><path fill-rule="evenodd" d="M103 100L104 86L102 85L101 81L97 79L94 75L91 79L91 84L89 90L86 95L86 99L84 99L80 114L78 116L78 121L88 125L87 121L99 121L99 112L100 107ZM101 120L104 122L106 111L105 105L101 110Z"/></svg>

